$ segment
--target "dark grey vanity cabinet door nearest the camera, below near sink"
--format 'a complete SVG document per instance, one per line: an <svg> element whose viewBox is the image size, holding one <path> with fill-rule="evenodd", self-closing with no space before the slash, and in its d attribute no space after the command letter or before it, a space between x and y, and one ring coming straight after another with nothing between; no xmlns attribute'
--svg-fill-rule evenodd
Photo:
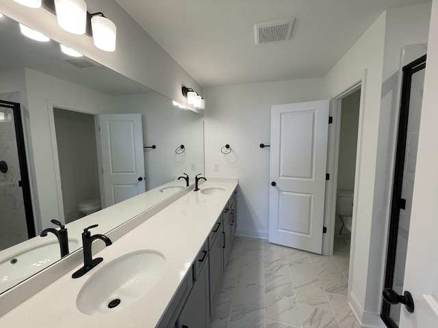
<svg viewBox="0 0 438 328"><path fill-rule="evenodd" d="M183 310L179 314L177 328L208 327L210 303L208 277L208 265L204 265L187 301L185 301Z"/></svg>

